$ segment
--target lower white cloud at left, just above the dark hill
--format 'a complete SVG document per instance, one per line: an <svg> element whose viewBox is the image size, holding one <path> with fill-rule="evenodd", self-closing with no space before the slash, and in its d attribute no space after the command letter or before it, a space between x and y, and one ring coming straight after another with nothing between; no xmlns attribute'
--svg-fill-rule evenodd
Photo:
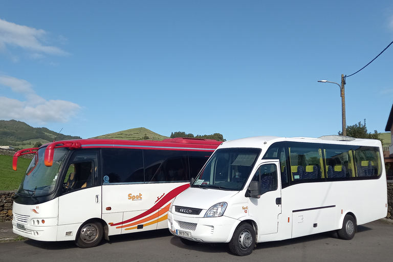
<svg viewBox="0 0 393 262"><path fill-rule="evenodd" d="M26 101L0 97L0 119L46 124L48 122L68 122L75 116L80 106L70 101L45 100L35 94L32 84L23 79L0 75L0 85L11 88L14 93L23 94Z"/></svg>

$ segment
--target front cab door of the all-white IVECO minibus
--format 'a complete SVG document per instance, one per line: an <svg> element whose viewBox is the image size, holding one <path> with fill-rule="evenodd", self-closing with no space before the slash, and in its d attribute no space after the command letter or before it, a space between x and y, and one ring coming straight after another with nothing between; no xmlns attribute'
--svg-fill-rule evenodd
<svg viewBox="0 0 393 262"><path fill-rule="evenodd" d="M248 212L258 223L258 235L277 233L281 213L281 184L279 161L265 162L256 170L252 180L260 184L260 198L249 198Z"/></svg>

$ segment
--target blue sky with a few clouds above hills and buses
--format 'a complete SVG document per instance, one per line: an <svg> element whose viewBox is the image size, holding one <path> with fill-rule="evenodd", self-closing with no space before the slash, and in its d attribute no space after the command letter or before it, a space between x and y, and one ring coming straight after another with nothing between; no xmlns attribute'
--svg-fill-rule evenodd
<svg viewBox="0 0 393 262"><path fill-rule="evenodd" d="M0 119L91 138L341 130L341 81L393 41L392 1L2 1ZM346 78L346 123L384 132L393 45Z"/></svg>

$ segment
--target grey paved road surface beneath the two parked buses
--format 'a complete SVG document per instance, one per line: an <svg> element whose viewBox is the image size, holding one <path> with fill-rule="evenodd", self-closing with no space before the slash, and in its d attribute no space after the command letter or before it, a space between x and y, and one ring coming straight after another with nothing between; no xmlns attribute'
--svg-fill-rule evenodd
<svg viewBox="0 0 393 262"><path fill-rule="evenodd" d="M391 261L393 224L376 221L358 227L351 241L331 233L305 236L286 241L258 244L249 256L229 253L227 245L183 245L167 230L111 237L90 249L77 248L72 242L32 240L0 243L0 261Z"/></svg>

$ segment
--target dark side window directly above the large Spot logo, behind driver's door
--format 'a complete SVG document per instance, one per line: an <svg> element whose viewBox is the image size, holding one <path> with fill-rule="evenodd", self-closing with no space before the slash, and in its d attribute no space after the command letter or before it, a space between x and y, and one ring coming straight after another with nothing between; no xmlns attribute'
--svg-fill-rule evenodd
<svg viewBox="0 0 393 262"><path fill-rule="evenodd" d="M102 149L104 183L144 182L142 149Z"/></svg>

